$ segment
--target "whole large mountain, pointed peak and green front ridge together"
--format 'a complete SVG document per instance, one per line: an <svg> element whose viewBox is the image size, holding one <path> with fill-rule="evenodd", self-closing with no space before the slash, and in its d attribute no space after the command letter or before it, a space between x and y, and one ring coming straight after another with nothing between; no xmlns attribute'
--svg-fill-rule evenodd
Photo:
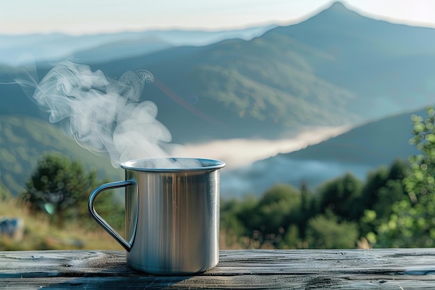
<svg viewBox="0 0 435 290"><path fill-rule="evenodd" d="M307 125L362 124L430 104L434 48L435 29L370 19L334 3L251 40L95 58L92 70L113 78L128 70L152 72L156 81L142 97L158 105L158 120L176 143L274 139ZM49 68L39 63L39 75ZM35 112L19 88L0 86L1 114L40 117Z"/></svg>

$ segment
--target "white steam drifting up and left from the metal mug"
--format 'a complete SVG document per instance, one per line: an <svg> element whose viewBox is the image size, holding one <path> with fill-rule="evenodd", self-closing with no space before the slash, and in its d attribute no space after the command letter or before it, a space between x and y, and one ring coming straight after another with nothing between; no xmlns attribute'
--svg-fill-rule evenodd
<svg viewBox="0 0 435 290"><path fill-rule="evenodd" d="M147 70L110 79L88 65L63 61L33 83L32 99L47 109L50 122L68 118L76 142L94 153L108 152L117 168L132 159L168 156L170 131L156 120L156 104L140 102L143 87L153 81Z"/></svg>

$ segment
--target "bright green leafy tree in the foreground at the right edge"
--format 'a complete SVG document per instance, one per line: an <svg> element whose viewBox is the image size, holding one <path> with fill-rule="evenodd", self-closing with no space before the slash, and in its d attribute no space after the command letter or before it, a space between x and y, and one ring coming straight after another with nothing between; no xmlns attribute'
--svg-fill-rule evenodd
<svg viewBox="0 0 435 290"><path fill-rule="evenodd" d="M409 140L421 154L409 157L411 169L404 177L407 198L394 202L390 218L379 225L379 247L435 246L435 111L427 118L411 115L413 137Z"/></svg>

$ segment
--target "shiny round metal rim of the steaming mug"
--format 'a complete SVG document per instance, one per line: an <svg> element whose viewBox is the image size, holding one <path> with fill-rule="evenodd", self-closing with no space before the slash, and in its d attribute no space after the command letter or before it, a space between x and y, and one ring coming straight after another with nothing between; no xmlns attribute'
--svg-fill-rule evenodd
<svg viewBox="0 0 435 290"><path fill-rule="evenodd" d="M146 161L158 161L170 159L175 161L199 161L202 166L192 167L146 167L138 166L140 163L146 163ZM147 172L186 172L186 171L200 171L200 170L216 170L225 166L224 161L217 159L204 159L204 158L190 158L190 157L161 157L161 158L142 158L124 161L120 164L121 168L126 170L147 171Z"/></svg>

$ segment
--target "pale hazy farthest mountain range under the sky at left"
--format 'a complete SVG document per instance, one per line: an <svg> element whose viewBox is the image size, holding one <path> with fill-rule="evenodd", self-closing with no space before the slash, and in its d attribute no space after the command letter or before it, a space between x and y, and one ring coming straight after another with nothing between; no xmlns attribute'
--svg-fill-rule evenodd
<svg viewBox="0 0 435 290"><path fill-rule="evenodd" d="M108 61L172 46L208 45L229 38L248 40L274 27L256 26L229 31L151 30L90 35L0 35L0 63L16 66L58 61L61 58L73 58L85 63Z"/></svg>

